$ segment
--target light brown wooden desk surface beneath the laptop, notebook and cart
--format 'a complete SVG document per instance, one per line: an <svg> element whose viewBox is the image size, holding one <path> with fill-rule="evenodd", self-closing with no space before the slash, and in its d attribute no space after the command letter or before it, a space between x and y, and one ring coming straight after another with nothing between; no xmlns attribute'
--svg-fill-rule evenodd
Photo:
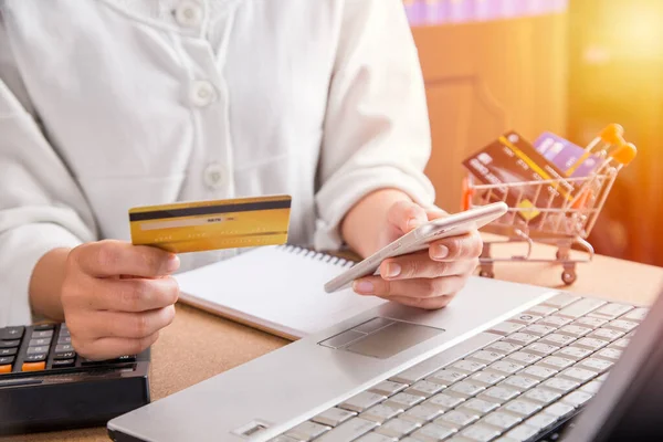
<svg viewBox="0 0 663 442"><path fill-rule="evenodd" d="M535 255L549 255L550 249L537 246ZM561 269L551 264L503 264L496 277L562 287ZM663 269L604 256L578 267L572 292L635 304L650 304L663 286ZM152 349L151 394L161 399L253 358L275 350L287 341L222 319L196 308L178 305L177 317L161 333ZM36 404L35 404L36 406ZM108 441L103 428L21 435L1 439L12 442Z"/></svg>

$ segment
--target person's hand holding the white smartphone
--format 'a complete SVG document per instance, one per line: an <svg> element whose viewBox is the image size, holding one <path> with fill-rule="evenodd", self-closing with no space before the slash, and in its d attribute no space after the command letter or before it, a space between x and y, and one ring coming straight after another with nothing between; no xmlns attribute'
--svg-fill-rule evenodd
<svg viewBox="0 0 663 442"><path fill-rule="evenodd" d="M427 212L411 201L398 201L387 211L387 227L379 236L380 246L427 220L443 217L446 213L442 210ZM357 280L352 287L360 295L375 295L421 308L442 308L463 288L476 269L482 248L477 231L435 241L425 251L385 260L380 276Z"/></svg>

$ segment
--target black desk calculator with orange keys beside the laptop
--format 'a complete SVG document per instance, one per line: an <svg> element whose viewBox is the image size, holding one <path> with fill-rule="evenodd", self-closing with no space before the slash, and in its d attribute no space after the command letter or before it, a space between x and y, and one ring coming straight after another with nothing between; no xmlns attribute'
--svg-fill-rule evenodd
<svg viewBox="0 0 663 442"><path fill-rule="evenodd" d="M149 349L95 361L71 340L65 324L0 328L0 435L104 427L149 402Z"/></svg>

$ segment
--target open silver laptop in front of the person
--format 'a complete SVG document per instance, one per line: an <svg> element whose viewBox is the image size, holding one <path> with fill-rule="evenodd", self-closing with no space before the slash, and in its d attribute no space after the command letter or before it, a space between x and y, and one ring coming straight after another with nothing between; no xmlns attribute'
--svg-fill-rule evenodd
<svg viewBox="0 0 663 442"><path fill-rule="evenodd" d="M663 317L662 299L652 316ZM108 434L118 442L559 440L648 312L472 277L444 309L381 305L113 419ZM663 346L652 349L663 323L654 320L568 440L611 440L614 425L642 422L629 407L641 390L623 390L663 369ZM662 388L646 396L652 404ZM624 394L630 401L615 407ZM615 413L614 425L601 427Z"/></svg>

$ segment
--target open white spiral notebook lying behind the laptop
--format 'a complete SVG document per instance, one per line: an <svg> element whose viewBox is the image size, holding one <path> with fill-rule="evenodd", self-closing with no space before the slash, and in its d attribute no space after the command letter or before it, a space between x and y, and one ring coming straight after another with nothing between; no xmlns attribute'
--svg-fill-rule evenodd
<svg viewBox="0 0 663 442"><path fill-rule="evenodd" d="M324 284L351 261L293 245L264 246L176 275L180 301L207 312L298 339L385 301Z"/></svg>

